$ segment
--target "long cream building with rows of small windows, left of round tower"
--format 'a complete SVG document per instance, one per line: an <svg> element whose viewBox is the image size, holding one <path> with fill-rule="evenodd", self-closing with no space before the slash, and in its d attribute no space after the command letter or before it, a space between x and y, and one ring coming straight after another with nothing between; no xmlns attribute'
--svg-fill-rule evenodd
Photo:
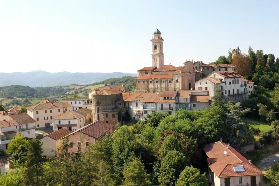
<svg viewBox="0 0 279 186"><path fill-rule="evenodd" d="M37 128L51 128L52 118L71 111L72 106L67 101L57 103L39 103L27 108L27 114L36 121Z"/></svg>

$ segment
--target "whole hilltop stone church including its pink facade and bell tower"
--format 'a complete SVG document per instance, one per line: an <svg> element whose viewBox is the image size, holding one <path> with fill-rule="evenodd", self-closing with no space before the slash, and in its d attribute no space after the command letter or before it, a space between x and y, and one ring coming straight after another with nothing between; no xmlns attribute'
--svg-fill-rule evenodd
<svg viewBox="0 0 279 186"><path fill-rule="evenodd" d="M195 90L195 82L202 78L202 72L194 69L193 61L185 61L183 66L164 65L161 32L156 28L150 40L152 45L152 66L138 70L137 92L164 92Z"/></svg>

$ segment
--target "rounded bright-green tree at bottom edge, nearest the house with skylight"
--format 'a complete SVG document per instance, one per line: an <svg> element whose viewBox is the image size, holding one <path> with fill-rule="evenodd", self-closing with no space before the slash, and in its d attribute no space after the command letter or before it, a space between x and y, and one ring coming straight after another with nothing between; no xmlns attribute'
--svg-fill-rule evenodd
<svg viewBox="0 0 279 186"><path fill-rule="evenodd" d="M176 186L208 186L206 173L201 174L200 170L193 166L187 166L180 174Z"/></svg>

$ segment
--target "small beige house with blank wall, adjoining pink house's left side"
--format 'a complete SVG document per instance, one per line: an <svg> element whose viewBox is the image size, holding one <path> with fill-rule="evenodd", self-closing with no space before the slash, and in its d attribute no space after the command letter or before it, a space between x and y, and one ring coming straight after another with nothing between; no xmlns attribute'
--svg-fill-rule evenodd
<svg viewBox="0 0 279 186"><path fill-rule="evenodd" d="M66 135L72 133L66 128L62 128L58 131L54 131L46 136L44 136L40 141L43 142L42 148L44 149L44 157L53 157L55 156L55 152L60 147L63 140L61 138Z"/></svg>

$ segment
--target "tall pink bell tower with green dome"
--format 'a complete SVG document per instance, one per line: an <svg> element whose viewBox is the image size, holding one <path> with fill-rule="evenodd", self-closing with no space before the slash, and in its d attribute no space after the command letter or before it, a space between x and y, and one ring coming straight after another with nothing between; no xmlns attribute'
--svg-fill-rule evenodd
<svg viewBox="0 0 279 186"><path fill-rule="evenodd" d="M163 52L163 38L161 37L161 32L156 28L152 39L152 66L157 68L164 68L164 52Z"/></svg>

